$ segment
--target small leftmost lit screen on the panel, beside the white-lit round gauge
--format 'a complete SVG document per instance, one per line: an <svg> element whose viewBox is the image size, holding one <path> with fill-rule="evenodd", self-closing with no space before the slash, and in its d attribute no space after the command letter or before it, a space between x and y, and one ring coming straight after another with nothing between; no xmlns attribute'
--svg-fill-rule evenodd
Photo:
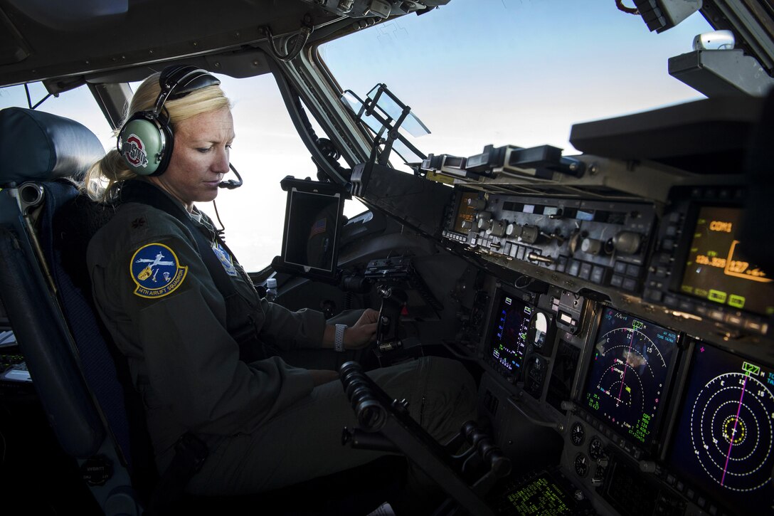
<svg viewBox="0 0 774 516"><path fill-rule="evenodd" d="M502 294L491 332L490 356L502 369L521 377L533 308Z"/></svg>

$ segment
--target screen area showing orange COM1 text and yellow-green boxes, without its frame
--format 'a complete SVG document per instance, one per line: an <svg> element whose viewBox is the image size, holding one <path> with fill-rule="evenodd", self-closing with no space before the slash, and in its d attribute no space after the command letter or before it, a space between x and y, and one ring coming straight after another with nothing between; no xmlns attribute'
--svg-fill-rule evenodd
<svg viewBox="0 0 774 516"><path fill-rule="evenodd" d="M774 314L772 278L745 259L736 238L741 208L703 206L694 230L680 291L760 315Z"/></svg>

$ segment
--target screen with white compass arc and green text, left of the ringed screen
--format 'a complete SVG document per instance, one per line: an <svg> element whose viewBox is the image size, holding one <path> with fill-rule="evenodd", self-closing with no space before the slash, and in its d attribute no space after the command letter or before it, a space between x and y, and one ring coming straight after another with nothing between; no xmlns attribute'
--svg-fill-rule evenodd
<svg viewBox="0 0 774 516"><path fill-rule="evenodd" d="M631 441L651 445L676 359L677 334L607 308L594 342L587 410Z"/></svg>

